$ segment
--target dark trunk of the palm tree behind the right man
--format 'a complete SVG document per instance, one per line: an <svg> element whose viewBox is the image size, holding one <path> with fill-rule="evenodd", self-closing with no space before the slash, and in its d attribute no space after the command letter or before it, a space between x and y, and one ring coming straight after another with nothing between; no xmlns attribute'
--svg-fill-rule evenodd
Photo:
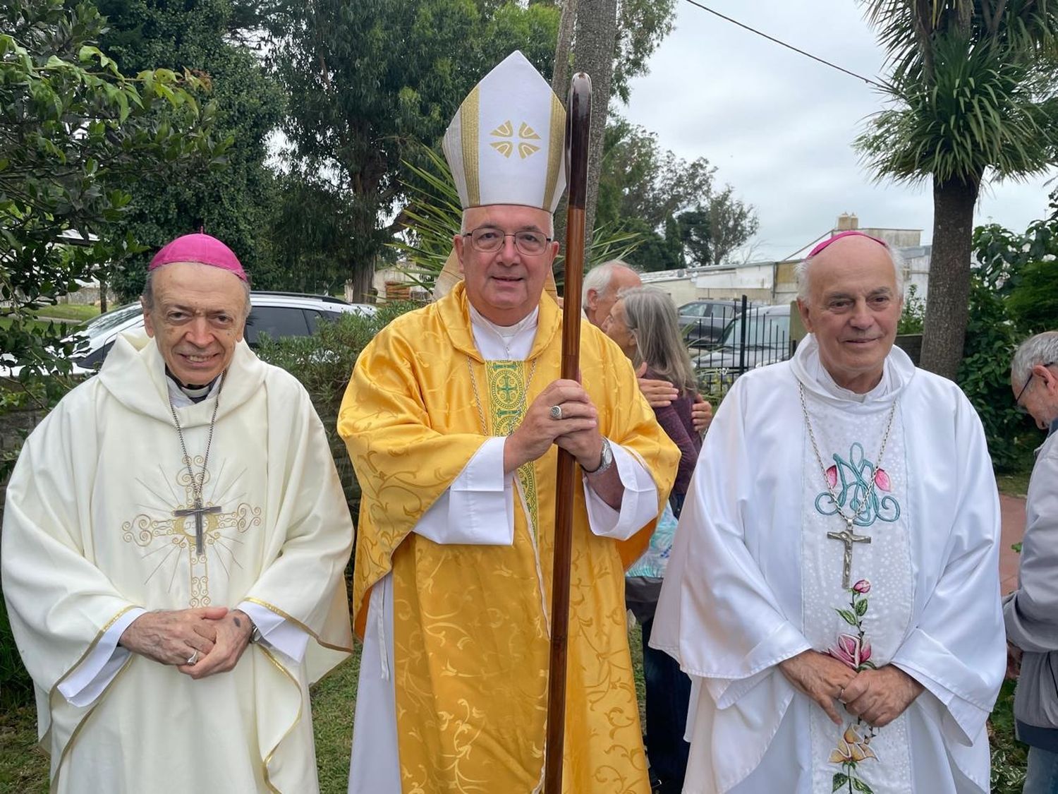
<svg viewBox="0 0 1058 794"><path fill-rule="evenodd" d="M970 299L973 205L980 180L933 181L933 251L920 366L951 380L963 360Z"/></svg>

